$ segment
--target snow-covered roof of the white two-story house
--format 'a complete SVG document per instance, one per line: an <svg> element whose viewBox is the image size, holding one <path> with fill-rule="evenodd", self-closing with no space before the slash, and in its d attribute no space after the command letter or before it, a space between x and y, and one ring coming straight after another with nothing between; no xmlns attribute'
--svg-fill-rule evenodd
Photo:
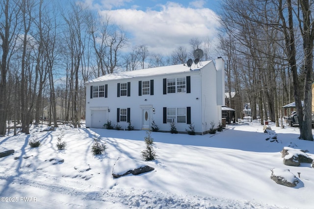
<svg viewBox="0 0 314 209"><path fill-rule="evenodd" d="M202 69L204 66L206 66L210 62L212 62L212 60L200 62L198 63L198 65L192 64L191 70L186 65L184 66L183 64L180 64L180 65L171 65L171 66L163 66L163 67L156 67L156 68L148 68L148 69L143 69L143 70L134 70L134 71L125 71L125 72L107 74L105 76L86 81L85 83L196 71L196 70Z"/></svg>

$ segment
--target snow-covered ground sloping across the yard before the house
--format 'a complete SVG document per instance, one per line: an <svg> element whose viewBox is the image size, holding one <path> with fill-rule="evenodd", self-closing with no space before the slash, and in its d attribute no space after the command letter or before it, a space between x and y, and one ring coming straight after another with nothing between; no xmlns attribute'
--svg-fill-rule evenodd
<svg viewBox="0 0 314 209"><path fill-rule="evenodd" d="M290 146L308 150L313 158L314 142L297 139L298 128L281 129L273 123L270 127L269 133L259 122L228 125L214 135L152 132L158 157L150 162L141 159L146 131L62 126L10 134L0 137L0 152L15 150L0 158L0 208L313 208L314 168L308 163L286 166L280 151ZM67 147L58 151L62 131ZM95 136L106 143L103 155L92 155ZM277 141L266 140L273 136ZM30 148L32 138L42 145ZM155 170L114 179L113 165L120 156ZM270 179L272 168L289 169L296 177L301 173L300 183L275 183Z"/></svg>

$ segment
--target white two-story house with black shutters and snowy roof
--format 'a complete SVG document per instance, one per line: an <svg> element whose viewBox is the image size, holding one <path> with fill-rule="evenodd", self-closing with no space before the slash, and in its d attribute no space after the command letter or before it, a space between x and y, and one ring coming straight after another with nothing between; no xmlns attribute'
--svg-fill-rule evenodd
<svg viewBox="0 0 314 209"><path fill-rule="evenodd" d="M135 130L170 131L173 122L185 132L207 133L221 121L225 103L224 60L198 65L173 65L108 74L85 82L86 127L103 128L107 121Z"/></svg>

